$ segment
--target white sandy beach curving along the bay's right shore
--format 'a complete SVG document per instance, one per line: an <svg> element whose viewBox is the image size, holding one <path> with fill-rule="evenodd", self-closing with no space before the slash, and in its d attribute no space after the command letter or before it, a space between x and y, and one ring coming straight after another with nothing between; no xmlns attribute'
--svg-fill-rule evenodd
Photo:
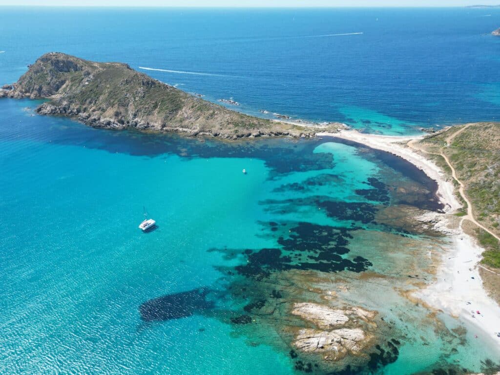
<svg viewBox="0 0 500 375"><path fill-rule="evenodd" d="M387 151L422 169L425 174L437 181L437 195L445 205L446 213L437 215L440 216L437 227L444 227L448 222L449 214L461 207L453 193L453 184L445 180L440 168L433 161L405 145L406 142L423 136L371 135L355 130L341 130L338 133L323 132L317 135L335 136ZM442 263L436 273L436 280L426 289L420 290L416 296L429 305L468 322L472 330L476 329L471 332L472 334L482 338L488 337L491 344L497 345L500 349L500 337L496 336L496 332L500 332L500 306L484 290L477 266L483 249L475 243L474 238L465 234L461 227L446 230L446 233L452 243L449 252L443 255ZM473 314L472 311L474 311Z"/></svg>

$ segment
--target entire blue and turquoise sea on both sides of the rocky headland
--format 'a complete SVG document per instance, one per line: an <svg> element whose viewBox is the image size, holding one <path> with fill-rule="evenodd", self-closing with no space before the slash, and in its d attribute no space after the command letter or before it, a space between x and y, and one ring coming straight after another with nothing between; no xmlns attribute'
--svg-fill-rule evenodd
<svg viewBox="0 0 500 375"><path fill-rule="evenodd" d="M498 27L500 9L0 7L0 85L60 51L250 114L413 134L498 119ZM343 374L500 362L404 297L449 245L406 219L440 209L410 164L334 138L93 129L38 103L0 100L2 375L328 372L290 351L295 301L378 311L380 349Z"/></svg>

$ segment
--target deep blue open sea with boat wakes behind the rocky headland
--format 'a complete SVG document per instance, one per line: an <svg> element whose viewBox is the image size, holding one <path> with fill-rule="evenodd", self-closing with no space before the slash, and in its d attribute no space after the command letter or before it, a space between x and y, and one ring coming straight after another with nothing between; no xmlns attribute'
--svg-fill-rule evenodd
<svg viewBox="0 0 500 375"><path fill-rule="evenodd" d="M498 119L499 25L494 8L2 8L0 80L61 51L201 73L144 70L248 113L397 133Z"/></svg>

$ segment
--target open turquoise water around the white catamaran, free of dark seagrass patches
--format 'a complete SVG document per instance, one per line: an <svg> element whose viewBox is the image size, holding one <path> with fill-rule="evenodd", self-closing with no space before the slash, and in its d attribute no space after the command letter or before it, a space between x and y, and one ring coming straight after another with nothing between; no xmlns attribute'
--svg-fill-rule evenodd
<svg viewBox="0 0 500 375"><path fill-rule="evenodd" d="M2 101L2 118L5 104L26 116ZM23 120L28 131L81 126ZM147 325L138 313L149 298L212 284L220 256L207 248L242 237L262 245L247 201L266 177L261 160L246 160L243 176L238 159L131 156L47 138L2 141L1 160L2 221L15 217L1 233L2 373L289 372L286 357L230 339L217 321ZM137 228L143 204L159 223L148 234Z"/></svg>

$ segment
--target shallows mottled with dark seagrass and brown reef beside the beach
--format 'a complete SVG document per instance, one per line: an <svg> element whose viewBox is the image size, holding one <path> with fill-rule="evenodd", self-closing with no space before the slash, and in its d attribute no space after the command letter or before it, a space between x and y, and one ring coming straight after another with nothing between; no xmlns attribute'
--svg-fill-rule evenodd
<svg viewBox="0 0 500 375"><path fill-rule="evenodd" d="M450 359L464 350L465 329L447 327L438 311L411 296L431 282L447 246L442 234L414 219L442 208L434 181L393 156L356 148L366 158L383 160L377 164L381 167L356 182L347 198L329 196L325 187L345 186L349 176L330 172L334 154L307 153L318 144L222 147L232 156L243 150L261 155L269 180L276 181L272 198L258 201L266 219L257 222L256 235L269 246L207 249L221 255L216 266L221 276L209 292L191 290L145 302L166 309L152 309L149 316L181 317L170 302L186 297L179 302L186 313L229 324L232 334L249 345L287 353L297 372L377 373L405 350L429 347L439 357L428 373L465 373ZM186 152L204 157L208 151L196 146ZM279 183L283 176L303 172L308 173L302 181Z"/></svg>

